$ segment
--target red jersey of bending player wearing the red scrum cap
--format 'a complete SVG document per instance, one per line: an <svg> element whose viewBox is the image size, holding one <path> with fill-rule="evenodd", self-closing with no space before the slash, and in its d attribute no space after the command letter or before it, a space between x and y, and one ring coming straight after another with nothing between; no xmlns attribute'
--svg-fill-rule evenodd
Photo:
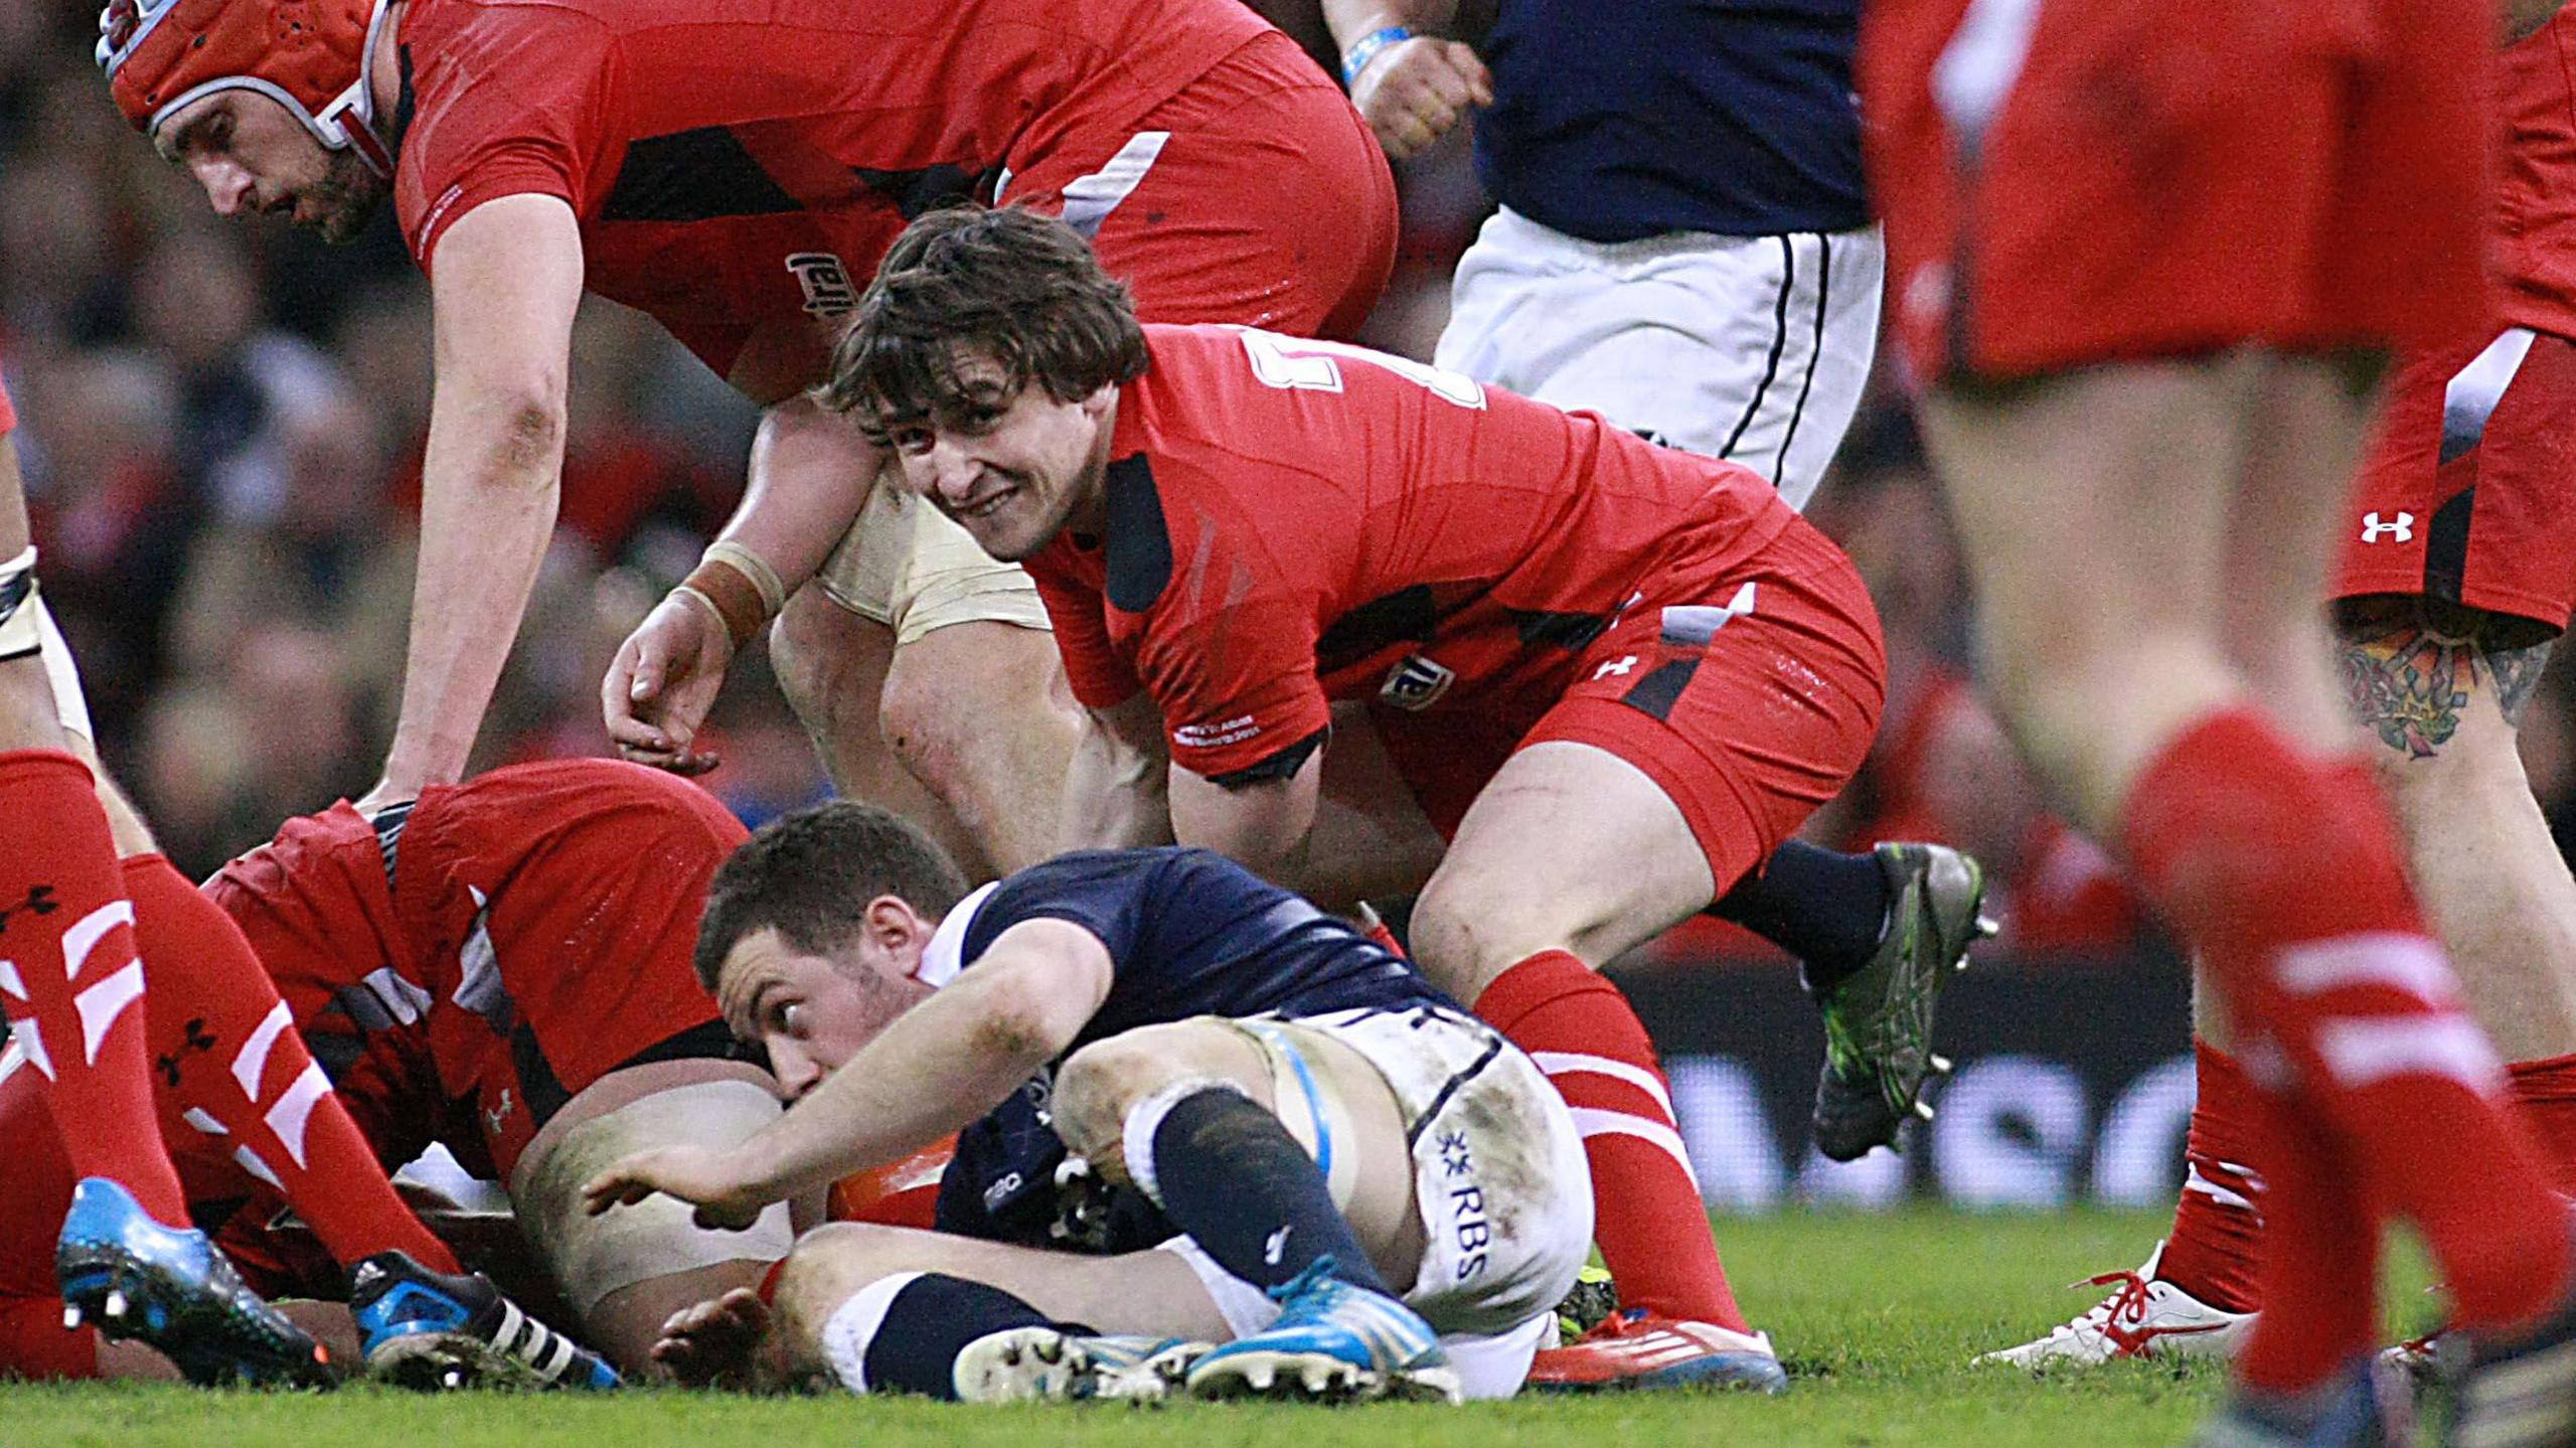
<svg viewBox="0 0 2576 1448"><path fill-rule="evenodd" d="M428 268L474 206L564 198L590 291L724 374L755 325L853 307L907 219L1267 28L1234 0L415 0L394 201Z"/></svg>

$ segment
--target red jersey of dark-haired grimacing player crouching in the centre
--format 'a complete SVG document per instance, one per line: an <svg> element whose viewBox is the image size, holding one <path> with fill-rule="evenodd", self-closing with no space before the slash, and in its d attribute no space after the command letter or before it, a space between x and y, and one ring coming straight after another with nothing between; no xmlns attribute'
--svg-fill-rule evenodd
<svg viewBox="0 0 2576 1448"><path fill-rule="evenodd" d="M1458 374L1249 327L1146 327L1121 389L1105 538L1028 559L1074 693L1162 703L1224 776L1316 734L1329 698L1530 709L1672 564L1757 554L1759 474Z"/></svg>

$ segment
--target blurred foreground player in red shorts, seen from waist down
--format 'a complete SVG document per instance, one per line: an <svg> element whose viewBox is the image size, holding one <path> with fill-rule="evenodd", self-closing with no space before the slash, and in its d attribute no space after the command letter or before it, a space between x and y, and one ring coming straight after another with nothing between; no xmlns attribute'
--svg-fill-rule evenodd
<svg viewBox="0 0 2576 1448"><path fill-rule="evenodd" d="M2576 1438L2568 1214L2427 933L2321 608L2383 350L2486 309L2491 26L1880 0L1862 28L1989 683L2200 953L2246 1067L2267 1311L2210 1443L2380 1440L2383 1214L2468 1329L2460 1440Z"/></svg>

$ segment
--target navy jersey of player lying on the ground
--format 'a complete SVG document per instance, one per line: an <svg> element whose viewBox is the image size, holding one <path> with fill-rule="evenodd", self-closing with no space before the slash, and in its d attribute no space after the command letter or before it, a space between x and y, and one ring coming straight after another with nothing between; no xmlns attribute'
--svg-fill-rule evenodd
<svg viewBox="0 0 2576 1448"><path fill-rule="evenodd" d="M922 976L945 984L1023 920L1100 938L1108 1000L1066 1046L1193 1015L1324 1015L1458 1005L1347 920L1213 850L1082 850L1007 876L940 922ZM953 951L953 958L940 958ZM1061 1062L1061 1056L1059 1056ZM1054 1067L958 1134L938 1229L1036 1247L1133 1252L1172 1234L1131 1190L1066 1167L1048 1098Z"/></svg>

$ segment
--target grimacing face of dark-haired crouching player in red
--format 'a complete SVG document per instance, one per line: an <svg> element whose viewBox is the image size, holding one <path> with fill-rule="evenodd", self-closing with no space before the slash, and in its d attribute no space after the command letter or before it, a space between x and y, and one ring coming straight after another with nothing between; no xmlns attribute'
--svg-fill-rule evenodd
<svg viewBox="0 0 2576 1448"><path fill-rule="evenodd" d="M1020 562L1066 526L1097 528L1118 389L1056 402L1038 384L1010 392L1002 368L958 368L971 407L886 428L904 490L927 497L987 554Z"/></svg>

